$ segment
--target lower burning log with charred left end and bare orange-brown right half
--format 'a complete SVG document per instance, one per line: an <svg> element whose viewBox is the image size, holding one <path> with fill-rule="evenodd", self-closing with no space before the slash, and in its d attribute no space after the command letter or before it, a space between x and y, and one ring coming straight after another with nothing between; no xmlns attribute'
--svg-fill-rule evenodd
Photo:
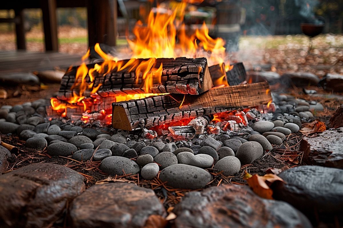
<svg viewBox="0 0 343 228"><path fill-rule="evenodd" d="M242 107L267 104L272 98L268 82L214 88L198 96L161 95L113 103L112 125L138 130Z"/></svg>

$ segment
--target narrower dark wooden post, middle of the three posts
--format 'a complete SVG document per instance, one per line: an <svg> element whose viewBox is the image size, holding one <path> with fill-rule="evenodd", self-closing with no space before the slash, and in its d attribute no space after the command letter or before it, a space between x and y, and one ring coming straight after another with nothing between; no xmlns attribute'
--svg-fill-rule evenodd
<svg viewBox="0 0 343 228"><path fill-rule="evenodd" d="M45 50L58 51L56 0L41 0Z"/></svg>

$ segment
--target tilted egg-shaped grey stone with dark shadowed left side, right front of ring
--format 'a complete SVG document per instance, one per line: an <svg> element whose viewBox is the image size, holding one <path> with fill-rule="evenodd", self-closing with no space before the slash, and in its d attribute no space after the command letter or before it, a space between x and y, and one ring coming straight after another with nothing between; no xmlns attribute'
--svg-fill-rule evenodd
<svg viewBox="0 0 343 228"><path fill-rule="evenodd" d="M263 155L263 148L258 142L250 141L240 145L236 157L241 165L251 164Z"/></svg>

